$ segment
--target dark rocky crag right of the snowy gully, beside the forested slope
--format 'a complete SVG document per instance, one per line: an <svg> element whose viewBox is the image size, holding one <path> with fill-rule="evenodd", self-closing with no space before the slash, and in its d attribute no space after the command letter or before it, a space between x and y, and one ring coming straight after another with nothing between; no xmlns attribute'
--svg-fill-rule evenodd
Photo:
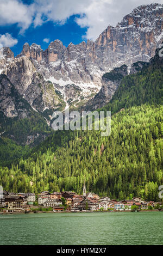
<svg viewBox="0 0 163 256"><path fill-rule="evenodd" d="M122 65L120 68L115 68L111 72L104 74L102 88L92 101L93 108L97 109L106 105L120 86L123 77L127 75L127 65Z"/></svg>

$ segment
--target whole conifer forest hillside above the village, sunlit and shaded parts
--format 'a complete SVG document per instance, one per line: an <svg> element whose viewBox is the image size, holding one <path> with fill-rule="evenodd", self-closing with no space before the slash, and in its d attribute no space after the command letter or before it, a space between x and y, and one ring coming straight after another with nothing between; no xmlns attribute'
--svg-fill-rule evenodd
<svg viewBox="0 0 163 256"><path fill-rule="evenodd" d="M163 184L162 84L163 65L154 63L124 77L112 100L100 109L111 111L110 136L101 137L101 131L95 130L53 131L33 149L23 148L22 155L16 148L19 159L12 156L12 163L5 159L4 164L1 157L0 184L13 192L82 193L85 180L86 190L100 196L159 201L158 187ZM44 128L50 132L46 125L42 131ZM11 149L2 150L10 158Z"/></svg>

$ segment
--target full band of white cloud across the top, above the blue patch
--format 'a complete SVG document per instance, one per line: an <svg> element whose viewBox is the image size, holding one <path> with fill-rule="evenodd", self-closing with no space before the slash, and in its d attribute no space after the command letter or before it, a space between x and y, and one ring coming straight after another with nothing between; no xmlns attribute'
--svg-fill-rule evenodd
<svg viewBox="0 0 163 256"><path fill-rule="evenodd" d="M23 33L32 23L34 27L47 21L62 25L79 14L76 22L87 28L85 38L96 40L108 25L116 26L135 7L152 2L163 4L163 0L34 0L25 5L20 0L1 0L0 26L17 23Z"/></svg>

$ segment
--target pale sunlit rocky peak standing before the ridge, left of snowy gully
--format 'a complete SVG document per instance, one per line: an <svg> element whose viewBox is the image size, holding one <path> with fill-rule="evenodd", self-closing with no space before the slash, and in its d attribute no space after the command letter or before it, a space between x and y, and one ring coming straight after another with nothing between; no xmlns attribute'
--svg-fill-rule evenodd
<svg viewBox="0 0 163 256"><path fill-rule="evenodd" d="M64 106L52 82L45 81L40 75L33 62L26 56L14 59L5 71L9 81L17 89L18 93L36 111L43 112L45 109L55 109Z"/></svg>

